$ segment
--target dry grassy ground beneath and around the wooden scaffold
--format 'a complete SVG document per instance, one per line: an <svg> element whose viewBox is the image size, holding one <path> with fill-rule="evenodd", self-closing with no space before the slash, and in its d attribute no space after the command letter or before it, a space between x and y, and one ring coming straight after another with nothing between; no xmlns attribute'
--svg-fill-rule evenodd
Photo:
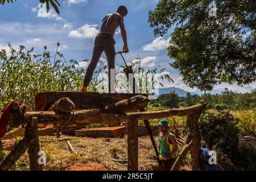
<svg viewBox="0 0 256 182"><path fill-rule="evenodd" d="M67 145L69 141L75 150L72 153ZM156 144L158 139L155 137ZM46 152L46 171L79 170L127 170L127 135L123 138L88 138L61 135L39 137L40 150ZM179 147L179 150L181 150ZM179 151L180 152L180 151ZM188 156L181 170L189 170ZM28 170L29 159L25 154L18 160L13 170ZM155 151L150 138L139 137L139 170L158 170Z"/></svg>

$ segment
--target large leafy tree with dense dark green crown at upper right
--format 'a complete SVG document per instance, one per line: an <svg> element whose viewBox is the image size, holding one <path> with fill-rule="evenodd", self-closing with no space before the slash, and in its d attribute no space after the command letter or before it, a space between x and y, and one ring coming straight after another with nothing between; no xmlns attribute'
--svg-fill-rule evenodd
<svg viewBox="0 0 256 182"><path fill-rule="evenodd" d="M160 0L148 22L155 36L175 27L168 56L191 88L212 90L222 82L243 86L256 80L254 0Z"/></svg>

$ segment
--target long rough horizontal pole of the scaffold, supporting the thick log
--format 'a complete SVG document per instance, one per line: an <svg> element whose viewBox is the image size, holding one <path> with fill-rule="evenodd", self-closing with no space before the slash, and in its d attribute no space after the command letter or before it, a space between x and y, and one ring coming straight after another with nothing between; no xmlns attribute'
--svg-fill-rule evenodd
<svg viewBox="0 0 256 182"><path fill-rule="evenodd" d="M72 115L69 114L61 114L57 115L53 111L35 111L35 112L27 112L25 115L26 121L30 121L32 117L38 118L38 123L44 123L48 125L49 123L57 123L60 122L65 123L67 118L69 119L70 124L73 123L99 123L106 125L120 125L122 122L133 121L133 119L138 118L139 120L144 119L161 119L167 118L171 116L185 116L192 115L193 113L199 113L199 115L204 110L204 105L195 105L191 107L186 107L183 109L168 109L162 111L146 111L146 112L137 112L137 113L125 113L125 114L103 114L100 109L90 109L90 110L80 110L74 111ZM9 121L12 120L13 117L10 113Z"/></svg>

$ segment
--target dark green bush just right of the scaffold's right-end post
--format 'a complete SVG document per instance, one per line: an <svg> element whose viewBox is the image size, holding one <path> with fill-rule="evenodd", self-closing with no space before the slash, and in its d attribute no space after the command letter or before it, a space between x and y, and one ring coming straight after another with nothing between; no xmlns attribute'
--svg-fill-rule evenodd
<svg viewBox="0 0 256 182"><path fill-rule="evenodd" d="M221 148L232 159L238 154L238 122L229 111L207 111L199 119L199 127L207 146Z"/></svg>

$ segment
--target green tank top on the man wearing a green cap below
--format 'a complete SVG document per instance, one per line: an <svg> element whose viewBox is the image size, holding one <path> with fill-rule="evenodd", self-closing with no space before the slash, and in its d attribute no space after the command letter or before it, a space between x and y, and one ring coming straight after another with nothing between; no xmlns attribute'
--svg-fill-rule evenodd
<svg viewBox="0 0 256 182"><path fill-rule="evenodd" d="M168 143L168 137L171 133L168 132L164 139L161 139L162 133L159 134L159 145L160 152L159 156L170 156L171 152L174 150L174 145Z"/></svg>

